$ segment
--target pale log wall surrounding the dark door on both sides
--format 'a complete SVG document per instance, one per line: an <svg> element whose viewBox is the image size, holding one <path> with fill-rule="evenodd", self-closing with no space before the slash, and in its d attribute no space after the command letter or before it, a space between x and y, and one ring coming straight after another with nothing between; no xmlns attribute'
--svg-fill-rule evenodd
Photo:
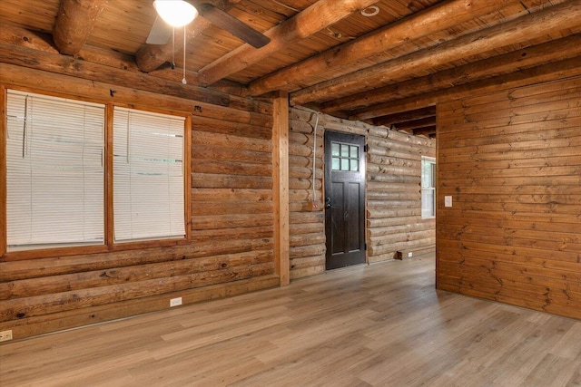
<svg viewBox="0 0 581 387"><path fill-rule="evenodd" d="M411 136L364 122L341 120L320 114L315 161L316 208L312 192L314 111L291 110L291 278L325 271L325 218L323 195L323 136L340 131L366 137L368 262L393 259L398 252L433 251L434 219L421 218L421 156L436 156L434 140Z"/></svg>

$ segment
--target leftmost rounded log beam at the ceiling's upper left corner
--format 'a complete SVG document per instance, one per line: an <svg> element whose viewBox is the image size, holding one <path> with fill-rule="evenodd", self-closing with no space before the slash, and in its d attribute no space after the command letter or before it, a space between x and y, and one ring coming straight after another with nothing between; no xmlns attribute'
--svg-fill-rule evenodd
<svg viewBox="0 0 581 387"><path fill-rule="evenodd" d="M81 51L108 1L61 0L53 28L54 45L59 53L74 55Z"/></svg>

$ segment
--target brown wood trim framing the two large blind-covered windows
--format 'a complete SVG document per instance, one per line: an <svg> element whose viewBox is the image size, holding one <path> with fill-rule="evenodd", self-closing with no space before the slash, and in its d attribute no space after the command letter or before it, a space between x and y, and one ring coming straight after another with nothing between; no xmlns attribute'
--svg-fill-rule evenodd
<svg viewBox="0 0 581 387"><path fill-rule="evenodd" d="M6 219L6 193L7 187L5 180L0 183L0 200L3 206L0 209L0 262L16 261L25 259L49 258L56 256L76 256L87 254L98 254L107 252L117 252L123 250L133 250L140 248L152 247L172 247L188 245L192 239L192 177L191 177L191 160L192 160L192 114L186 111L162 110L150 106L133 105L127 103L103 102L96 99L78 97L58 92L47 92L44 90L35 90L32 88L18 87L16 85L0 84L0 132L6 131L6 102L8 90L18 92L31 92L51 97L66 98L80 102L102 103L105 105L105 127L104 127L104 152L106 155L104 164L104 242L103 245L90 246L71 246L71 247L47 247L20 251L7 251L7 219ZM114 242L113 237L113 108L121 107L134 109L138 111L156 112L179 116L185 118L183 128L183 222L185 227L185 237L170 239L152 239L143 241ZM0 139L0 171L6 173L6 148L5 138Z"/></svg>

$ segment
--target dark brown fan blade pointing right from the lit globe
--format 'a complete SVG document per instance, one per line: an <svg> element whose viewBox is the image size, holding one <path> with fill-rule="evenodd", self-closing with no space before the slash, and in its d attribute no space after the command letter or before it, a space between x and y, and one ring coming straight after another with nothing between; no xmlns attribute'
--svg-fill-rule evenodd
<svg viewBox="0 0 581 387"><path fill-rule="evenodd" d="M253 47L261 48L271 42L269 37L259 33L250 25L242 23L234 16L209 3L202 3L201 5L197 5L196 8L200 15L208 19L212 24L239 37Z"/></svg>

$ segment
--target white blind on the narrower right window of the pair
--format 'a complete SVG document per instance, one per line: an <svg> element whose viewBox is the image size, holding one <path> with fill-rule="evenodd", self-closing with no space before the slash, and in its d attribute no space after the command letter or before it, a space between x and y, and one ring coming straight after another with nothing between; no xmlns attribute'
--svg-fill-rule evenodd
<svg viewBox="0 0 581 387"><path fill-rule="evenodd" d="M115 107L115 241L185 236L184 118Z"/></svg>

